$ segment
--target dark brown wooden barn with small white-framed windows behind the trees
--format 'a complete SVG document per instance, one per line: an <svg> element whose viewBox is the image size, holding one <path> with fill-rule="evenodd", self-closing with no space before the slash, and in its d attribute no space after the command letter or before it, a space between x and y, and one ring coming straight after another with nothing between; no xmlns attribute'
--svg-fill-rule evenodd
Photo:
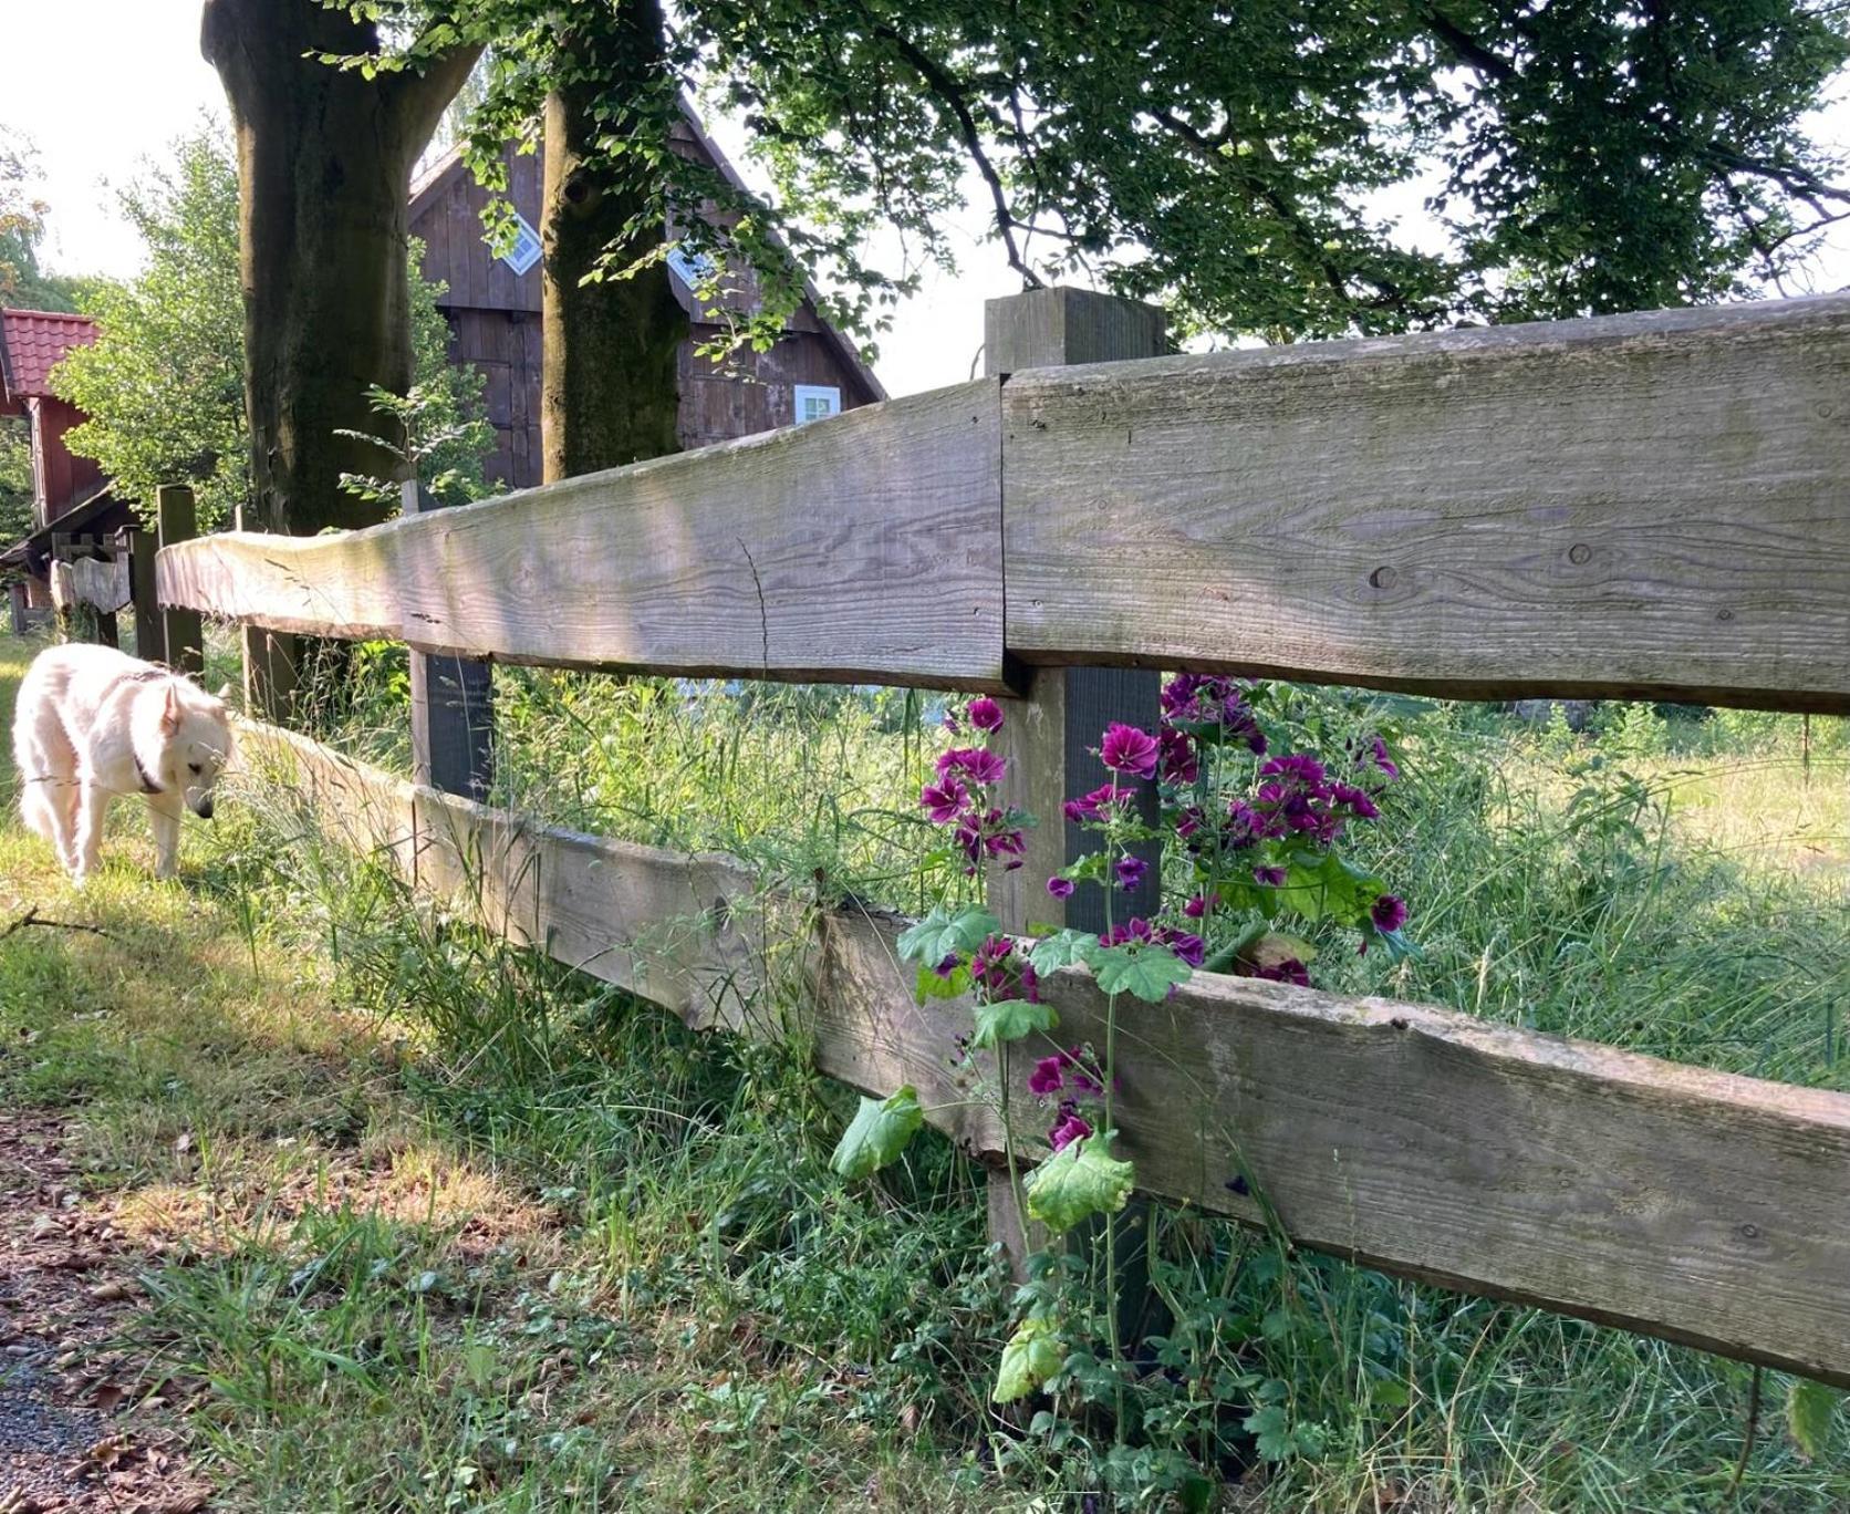
<svg viewBox="0 0 1850 1514"><path fill-rule="evenodd" d="M684 152L712 163L733 183L738 174L692 117ZM538 154L507 150L509 198L520 213L516 246L496 257L483 241L487 192L457 152L433 163L411 185L411 235L424 241L424 276L442 279L438 302L450 318L451 355L487 378L487 409L496 450L487 474L514 489L540 481L540 185ZM690 268L672 257L673 287L692 331L681 344L681 446L749 437L779 426L818 420L836 411L884 400L886 391L860 361L855 344L831 328L808 289L783 339L762 354L736 354L722 372L694 348L720 335L714 311L697 309Z"/></svg>

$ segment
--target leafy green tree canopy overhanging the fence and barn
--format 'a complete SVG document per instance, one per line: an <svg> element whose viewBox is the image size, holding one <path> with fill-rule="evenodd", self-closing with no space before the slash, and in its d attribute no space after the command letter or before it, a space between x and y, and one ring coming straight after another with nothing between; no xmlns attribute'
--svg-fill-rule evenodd
<svg viewBox="0 0 1850 1514"><path fill-rule="evenodd" d="M494 180L538 102L585 78L548 0L376 0L411 35L364 67L490 48L474 163ZM633 30L633 28L631 28ZM1832 0L1630 7L1582 0L684 0L649 87L603 70L599 172L690 241L779 268L771 233L847 292L905 289L860 261L888 224L949 259L966 170L1025 283L1090 270L1169 305L1184 331L1271 339L1691 304L1780 281L1850 215L1806 113L1850 57ZM348 59L355 63L357 59ZM683 87L744 118L781 211L668 146ZM1382 207L1419 178L1445 230L1419 244ZM740 220L718 231L701 200ZM740 204L746 200L747 204ZM659 239L657 239L659 241ZM635 239L612 239L633 267ZM768 291L788 309L788 279Z"/></svg>

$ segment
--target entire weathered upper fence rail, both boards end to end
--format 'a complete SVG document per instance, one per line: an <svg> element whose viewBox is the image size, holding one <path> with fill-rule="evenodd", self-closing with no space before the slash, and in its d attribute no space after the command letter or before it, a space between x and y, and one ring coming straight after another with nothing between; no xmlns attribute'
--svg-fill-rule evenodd
<svg viewBox="0 0 1850 1514"><path fill-rule="evenodd" d="M577 668L1850 711L1850 298L1025 370L157 572L246 624Z"/></svg>

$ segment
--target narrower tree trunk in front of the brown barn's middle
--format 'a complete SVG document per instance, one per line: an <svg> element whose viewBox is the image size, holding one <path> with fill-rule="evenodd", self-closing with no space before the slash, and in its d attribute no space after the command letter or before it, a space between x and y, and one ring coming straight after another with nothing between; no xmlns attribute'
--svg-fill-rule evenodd
<svg viewBox="0 0 1850 1514"><path fill-rule="evenodd" d="M594 26L564 39L561 50L572 67L546 100L540 231L540 453L548 483L679 452L679 359L688 329L666 263L627 279L585 283L605 248L616 246L612 267L622 268L660 246L664 235L660 217L644 218L640 230L629 226L648 196L599 172L594 148L610 131L666 137L670 117L659 102L666 98L673 109L675 96L664 76L660 4L622 0ZM612 102L616 117L609 115ZM666 141L638 146L668 150ZM648 157L627 154L623 163Z"/></svg>

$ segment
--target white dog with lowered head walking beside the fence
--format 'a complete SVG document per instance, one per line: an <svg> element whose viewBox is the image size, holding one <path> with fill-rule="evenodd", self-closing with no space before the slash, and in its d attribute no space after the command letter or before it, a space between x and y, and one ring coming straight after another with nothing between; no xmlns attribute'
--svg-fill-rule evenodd
<svg viewBox="0 0 1850 1514"><path fill-rule="evenodd" d="M96 872L104 814L144 794L155 875L179 868L179 811L213 818L213 785L231 755L224 700L107 646L52 646L18 687L13 763L26 825L57 848L81 888Z"/></svg>

